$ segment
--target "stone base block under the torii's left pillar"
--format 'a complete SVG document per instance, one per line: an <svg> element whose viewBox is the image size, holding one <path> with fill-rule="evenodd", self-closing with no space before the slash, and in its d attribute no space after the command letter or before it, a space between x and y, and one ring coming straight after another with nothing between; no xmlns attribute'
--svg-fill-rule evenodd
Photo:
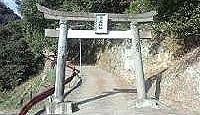
<svg viewBox="0 0 200 115"><path fill-rule="evenodd" d="M72 114L73 102L50 103L46 106L46 114Z"/></svg>

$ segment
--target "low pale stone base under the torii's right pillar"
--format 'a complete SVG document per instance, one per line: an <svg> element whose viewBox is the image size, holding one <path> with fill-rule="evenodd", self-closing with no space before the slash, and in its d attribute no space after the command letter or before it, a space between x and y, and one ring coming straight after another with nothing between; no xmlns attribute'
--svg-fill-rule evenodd
<svg viewBox="0 0 200 115"><path fill-rule="evenodd" d="M136 101L136 108L145 108L145 107L159 109L159 105L154 99L144 99Z"/></svg>

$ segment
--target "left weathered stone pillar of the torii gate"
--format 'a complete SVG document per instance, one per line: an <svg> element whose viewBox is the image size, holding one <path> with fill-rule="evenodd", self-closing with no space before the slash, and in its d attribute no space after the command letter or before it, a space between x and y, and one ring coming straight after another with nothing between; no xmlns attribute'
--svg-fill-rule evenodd
<svg viewBox="0 0 200 115"><path fill-rule="evenodd" d="M65 79L65 52L66 52L66 39L67 25L66 21L60 20L60 33L58 40L58 56L56 64L56 81L55 81L55 102L60 103L63 101L64 95L64 79Z"/></svg>

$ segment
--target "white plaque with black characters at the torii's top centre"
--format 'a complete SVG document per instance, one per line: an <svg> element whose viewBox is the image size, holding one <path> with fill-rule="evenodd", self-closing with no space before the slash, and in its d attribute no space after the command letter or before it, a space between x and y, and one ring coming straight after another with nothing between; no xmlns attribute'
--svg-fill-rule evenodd
<svg viewBox="0 0 200 115"><path fill-rule="evenodd" d="M108 33L108 14L105 13L96 14L95 33L96 34Z"/></svg>

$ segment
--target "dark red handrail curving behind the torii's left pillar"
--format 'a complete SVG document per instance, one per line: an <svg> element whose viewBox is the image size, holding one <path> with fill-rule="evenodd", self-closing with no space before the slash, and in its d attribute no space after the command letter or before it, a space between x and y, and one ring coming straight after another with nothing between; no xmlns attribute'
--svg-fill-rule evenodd
<svg viewBox="0 0 200 115"><path fill-rule="evenodd" d="M67 67L69 67L70 69L73 69L73 74L71 75L71 77L69 77L65 80L64 84L71 82L72 79L77 75L77 73L79 73L79 70L75 69L74 67L71 67L69 65L67 65ZM21 111L19 112L18 115L25 115L35 104L44 100L48 96L52 95L54 93L54 90L55 90L55 86L52 86L49 89L47 89L47 90L37 94L36 96L34 96L29 102L27 102L22 107L22 109L21 109Z"/></svg>

